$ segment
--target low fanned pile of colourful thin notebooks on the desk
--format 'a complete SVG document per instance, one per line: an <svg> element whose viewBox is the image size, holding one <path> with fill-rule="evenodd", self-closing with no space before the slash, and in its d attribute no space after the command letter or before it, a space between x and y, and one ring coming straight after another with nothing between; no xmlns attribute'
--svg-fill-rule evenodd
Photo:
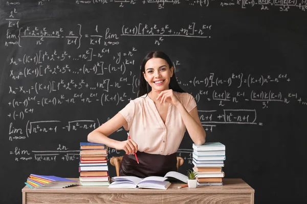
<svg viewBox="0 0 307 204"><path fill-rule="evenodd" d="M54 175L30 174L25 184L30 188L66 188L75 186L77 181Z"/></svg>

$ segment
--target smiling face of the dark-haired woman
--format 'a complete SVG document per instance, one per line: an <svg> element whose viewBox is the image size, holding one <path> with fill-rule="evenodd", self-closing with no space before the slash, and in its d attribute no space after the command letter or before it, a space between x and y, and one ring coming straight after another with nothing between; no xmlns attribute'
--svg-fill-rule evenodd
<svg viewBox="0 0 307 204"><path fill-rule="evenodd" d="M163 91L169 89L173 69L164 59L151 58L145 64L143 75L152 90Z"/></svg>

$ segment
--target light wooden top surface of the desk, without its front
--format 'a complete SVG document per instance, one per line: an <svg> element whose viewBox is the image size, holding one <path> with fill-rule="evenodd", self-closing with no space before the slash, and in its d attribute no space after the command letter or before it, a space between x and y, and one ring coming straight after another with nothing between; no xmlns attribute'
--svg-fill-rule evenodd
<svg viewBox="0 0 307 204"><path fill-rule="evenodd" d="M77 178L71 180L79 181ZM81 186L78 182L76 186L60 188L60 189L31 189L25 186L21 191L26 193L254 193L251 188L242 179L223 179L223 186L198 186L197 188L181 188L184 183L172 183L166 190L157 189L119 189L107 188L107 186Z"/></svg>

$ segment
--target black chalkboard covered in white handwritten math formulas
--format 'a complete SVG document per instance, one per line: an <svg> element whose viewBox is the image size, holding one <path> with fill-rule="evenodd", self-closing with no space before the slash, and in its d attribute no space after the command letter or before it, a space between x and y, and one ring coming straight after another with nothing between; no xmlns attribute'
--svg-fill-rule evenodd
<svg viewBox="0 0 307 204"><path fill-rule="evenodd" d="M137 97L151 50L195 97L207 142L226 145L225 177L254 188L255 203L303 202L306 10L306 0L1 1L1 203L21 202L30 173L79 176L79 142ZM186 133L182 173L191 152Z"/></svg>

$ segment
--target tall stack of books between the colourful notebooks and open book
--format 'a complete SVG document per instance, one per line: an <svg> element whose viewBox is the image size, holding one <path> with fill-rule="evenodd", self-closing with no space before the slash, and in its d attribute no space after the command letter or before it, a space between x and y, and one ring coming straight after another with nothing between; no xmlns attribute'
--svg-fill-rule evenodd
<svg viewBox="0 0 307 204"><path fill-rule="evenodd" d="M108 186L107 147L104 144L80 142L81 186Z"/></svg>

